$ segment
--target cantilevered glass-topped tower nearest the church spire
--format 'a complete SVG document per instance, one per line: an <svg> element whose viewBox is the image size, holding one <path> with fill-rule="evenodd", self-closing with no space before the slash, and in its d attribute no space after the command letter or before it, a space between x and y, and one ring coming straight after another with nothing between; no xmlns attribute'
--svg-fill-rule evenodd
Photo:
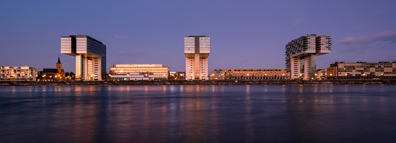
<svg viewBox="0 0 396 143"><path fill-rule="evenodd" d="M106 76L106 45L86 35L61 37L61 53L76 57L77 80L102 80Z"/></svg>

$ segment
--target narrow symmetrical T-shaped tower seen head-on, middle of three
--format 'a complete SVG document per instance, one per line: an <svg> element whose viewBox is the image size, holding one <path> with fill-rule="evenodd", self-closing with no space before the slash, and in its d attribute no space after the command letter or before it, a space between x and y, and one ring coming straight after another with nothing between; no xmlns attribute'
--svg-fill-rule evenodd
<svg viewBox="0 0 396 143"><path fill-rule="evenodd" d="M208 77L210 38L206 36L184 37L186 55L186 79L205 80Z"/></svg>

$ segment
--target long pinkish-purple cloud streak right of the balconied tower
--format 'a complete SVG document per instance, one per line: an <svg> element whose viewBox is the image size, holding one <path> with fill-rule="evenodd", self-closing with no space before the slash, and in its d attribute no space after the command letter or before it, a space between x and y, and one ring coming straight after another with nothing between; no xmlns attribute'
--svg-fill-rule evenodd
<svg viewBox="0 0 396 143"><path fill-rule="evenodd" d="M396 30L390 29L377 34L371 34L367 36L347 36L339 41L341 44L363 44L367 45L377 41L390 41L396 43Z"/></svg>

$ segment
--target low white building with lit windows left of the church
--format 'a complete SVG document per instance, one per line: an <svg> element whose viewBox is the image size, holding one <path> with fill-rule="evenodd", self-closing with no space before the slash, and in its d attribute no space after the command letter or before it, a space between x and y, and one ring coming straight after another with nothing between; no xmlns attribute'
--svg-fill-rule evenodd
<svg viewBox="0 0 396 143"><path fill-rule="evenodd" d="M31 66L1 66L0 67L0 80L18 80L18 81L36 81L37 70Z"/></svg>

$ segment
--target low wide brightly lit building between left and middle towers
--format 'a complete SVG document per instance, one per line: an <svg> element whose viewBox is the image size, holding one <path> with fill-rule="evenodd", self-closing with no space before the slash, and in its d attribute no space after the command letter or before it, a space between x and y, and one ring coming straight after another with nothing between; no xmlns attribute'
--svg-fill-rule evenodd
<svg viewBox="0 0 396 143"><path fill-rule="evenodd" d="M120 64L110 67L110 80L168 79L169 68L162 64Z"/></svg>

